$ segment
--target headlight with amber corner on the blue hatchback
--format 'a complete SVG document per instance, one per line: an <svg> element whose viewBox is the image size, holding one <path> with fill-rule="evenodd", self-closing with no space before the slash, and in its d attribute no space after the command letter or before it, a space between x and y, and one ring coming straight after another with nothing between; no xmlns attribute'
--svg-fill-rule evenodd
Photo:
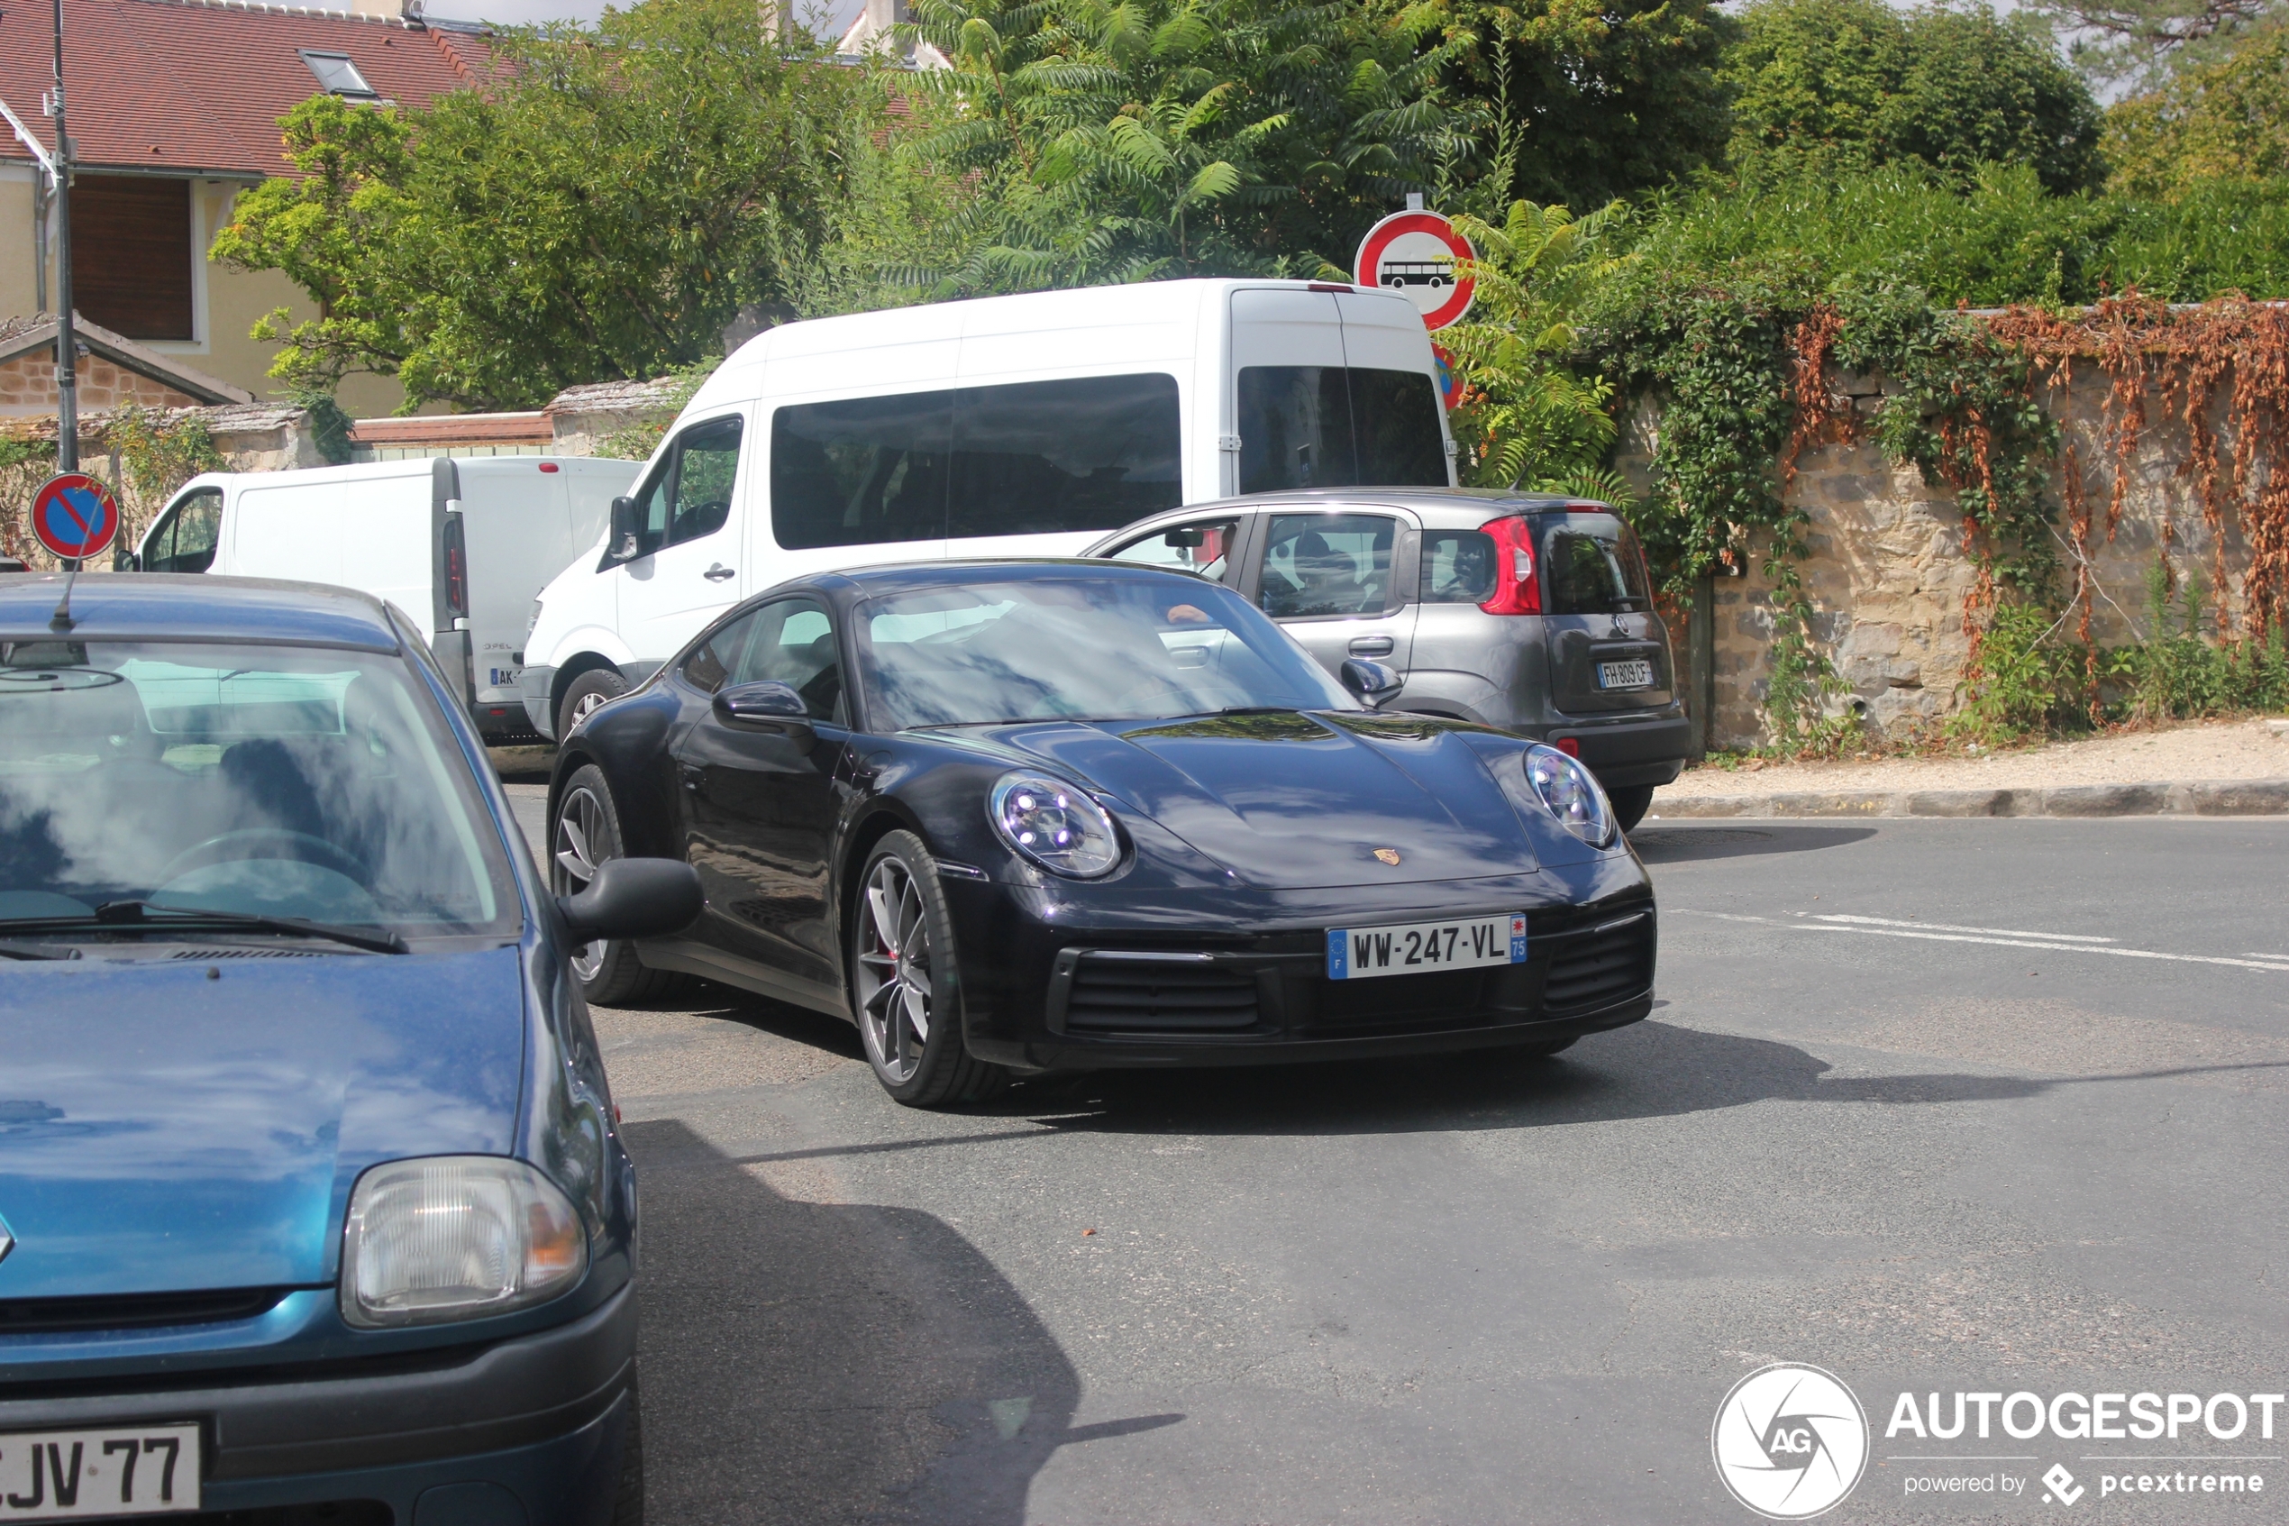
<svg viewBox="0 0 2289 1526"><path fill-rule="evenodd" d="M547 1302L586 1270L572 1199L522 1160L391 1160L350 1192L341 1318L364 1329L478 1320Z"/></svg>

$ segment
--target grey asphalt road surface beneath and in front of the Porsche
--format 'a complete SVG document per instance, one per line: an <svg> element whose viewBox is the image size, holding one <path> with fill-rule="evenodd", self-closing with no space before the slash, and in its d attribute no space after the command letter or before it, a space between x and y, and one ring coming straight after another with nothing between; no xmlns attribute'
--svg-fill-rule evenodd
<svg viewBox="0 0 2289 1526"><path fill-rule="evenodd" d="M1827 1519L2056 1512L2053 1462L2078 1517L2289 1517L2255 1418L1884 1434L1902 1391L2289 1386L2289 821L1639 844L1657 1009L1536 1066L927 1114L835 1020L716 988L597 1014L643 1169L652 1519L1749 1521L1710 1425L1767 1361L1868 1409ZM2275 1487L2101 1499L2129 1467ZM1909 1494L1948 1476L1998 1492Z"/></svg>

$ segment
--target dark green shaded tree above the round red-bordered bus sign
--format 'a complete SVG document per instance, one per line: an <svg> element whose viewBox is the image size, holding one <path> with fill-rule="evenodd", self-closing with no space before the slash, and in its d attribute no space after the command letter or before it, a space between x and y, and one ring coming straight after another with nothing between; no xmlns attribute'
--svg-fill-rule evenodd
<svg viewBox="0 0 2289 1526"><path fill-rule="evenodd" d="M1524 140L1495 201L1602 206L1717 162L1714 0L1419 0L1454 48L1449 82Z"/></svg>

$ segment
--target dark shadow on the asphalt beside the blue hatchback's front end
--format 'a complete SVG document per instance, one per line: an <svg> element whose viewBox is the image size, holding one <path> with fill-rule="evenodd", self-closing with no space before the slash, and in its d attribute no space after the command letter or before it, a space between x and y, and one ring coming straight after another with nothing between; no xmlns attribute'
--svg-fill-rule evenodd
<svg viewBox="0 0 2289 1526"><path fill-rule="evenodd" d="M643 1444L655 1521L1016 1526L1080 1382L943 1219L794 1201L678 1121L643 1171Z"/></svg>

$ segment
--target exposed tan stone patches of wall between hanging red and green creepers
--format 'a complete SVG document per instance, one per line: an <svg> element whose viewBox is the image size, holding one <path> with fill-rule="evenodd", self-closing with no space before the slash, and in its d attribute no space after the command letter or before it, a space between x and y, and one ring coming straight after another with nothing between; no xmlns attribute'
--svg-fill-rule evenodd
<svg viewBox="0 0 2289 1526"><path fill-rule="evenodd" d="M1852 398L1854 416L1875 414L1882 377L1831 377ZM2195 483L2184 476L2186 423L2165 414L2159 391L2145 400L2147 428L2126 474L2120 515L2108 535L2108 503L2115 467L2108 453L2108 377L2083 366L2065 387L2044 391L2046 412L2065 426L2069 458L2092 512L2088 538L2090 634L2099 645L2143 641L2147 625L2147 577L2168 554L2172 574L2207 579L2225 572L2223 609L2211 609L2204 627L2241 629L2241 579L2250 549L2241 524L2227 517L2213 535L2204 522ZM2232 428L2223 412L2211 421L2232 453ZM1639 490L1650 487L1648 464L1660 437L1655 407L1639 410L1621 453L1623 469ZM2053 474L2065 487L2067 467ZM1914 467L1893 467L1866 442L1827 444L1806 451L1788 501L1808 517L1799 577L1817 611L1813 641L1852 686L1831 702L1861 709L1882 732L1930 730L1962 709L1971 634L1964 604L1978 583L1978 567L1964 551L1964 517L1955 494L1927 487ZM2074 588L2076 547L2067 515L2058 515L2060 586ZM1714 581L1714 707L1710 746L1756 746L1767 739L1765 684L1772 668L1772 581L1763 577L1767 545L1753 545L1744 577ZM2207 595L2204 595L2207 597ZM1682 622L1678 629L1682 638ZM1680 666L1689 661L1678 645ZM1687 689L1698 696L1698 677Z"/></svg>

